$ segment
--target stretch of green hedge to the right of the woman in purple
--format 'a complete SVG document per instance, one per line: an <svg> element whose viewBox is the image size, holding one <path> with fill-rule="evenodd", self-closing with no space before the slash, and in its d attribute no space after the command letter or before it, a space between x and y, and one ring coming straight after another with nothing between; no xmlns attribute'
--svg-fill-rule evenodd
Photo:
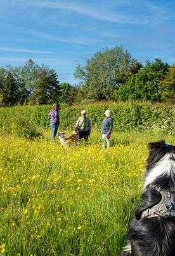
<svg viewBox="0 0 175 256"><path fill-rule="evenodd" d="M113 117L113 131L160 130L169 134L175 131L175 108L172 104L153 104L131 101L126 103L94 103L87 106L73 106L60 111L60 129L74 129L81 110L87 111L92 127L100 129L105 110L110 109Z"/></svg>

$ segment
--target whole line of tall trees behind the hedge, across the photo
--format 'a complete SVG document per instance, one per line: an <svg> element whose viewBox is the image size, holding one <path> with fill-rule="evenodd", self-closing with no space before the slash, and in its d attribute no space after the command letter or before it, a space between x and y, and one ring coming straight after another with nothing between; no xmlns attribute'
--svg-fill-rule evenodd
<svg viewBox="0 0 175 256"><path fill-rule="evenodd" d="M145 66L122 46L94 53L86 65L77 65L77 85L60 83L53 69L29 59L23 67L0 68L0 96L4 106L146 100L175 103L175 66L155 59Z"/></svg>

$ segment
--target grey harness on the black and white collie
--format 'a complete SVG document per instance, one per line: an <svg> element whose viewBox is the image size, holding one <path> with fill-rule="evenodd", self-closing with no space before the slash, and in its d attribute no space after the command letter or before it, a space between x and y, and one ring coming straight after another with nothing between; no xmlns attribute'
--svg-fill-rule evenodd
<svg viewBox="0 0 175 256"><path fill-rule="evenodd" d="M148 208L141 213L141 218L164 217L175 218L175 191L161 191L156 188L162 195L162 199L158 204Z"/></svg>

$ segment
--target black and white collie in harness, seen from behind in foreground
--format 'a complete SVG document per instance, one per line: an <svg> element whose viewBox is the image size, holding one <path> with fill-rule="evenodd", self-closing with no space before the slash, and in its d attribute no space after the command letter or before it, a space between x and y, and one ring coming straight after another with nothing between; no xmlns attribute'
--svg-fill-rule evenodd
<svg viewBox="0 0 175 256"><path fill-rule="evenodd" d="M175 146L148 144L141 204L119 256L175 256Z"/></svg>

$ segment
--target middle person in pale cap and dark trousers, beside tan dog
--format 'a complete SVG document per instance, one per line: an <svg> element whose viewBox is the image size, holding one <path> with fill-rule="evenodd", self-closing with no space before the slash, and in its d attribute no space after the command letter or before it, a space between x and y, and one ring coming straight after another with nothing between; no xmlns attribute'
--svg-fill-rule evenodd
<svg viewBox="0 0 175 256"><path fill-rule="evenodd" d="M87 140L91 134L91 123L89 118L86 117L86 110L81 111L81 117L78 118L75 129L79 131L79 139L84 139L87 145Z"/></svg>

